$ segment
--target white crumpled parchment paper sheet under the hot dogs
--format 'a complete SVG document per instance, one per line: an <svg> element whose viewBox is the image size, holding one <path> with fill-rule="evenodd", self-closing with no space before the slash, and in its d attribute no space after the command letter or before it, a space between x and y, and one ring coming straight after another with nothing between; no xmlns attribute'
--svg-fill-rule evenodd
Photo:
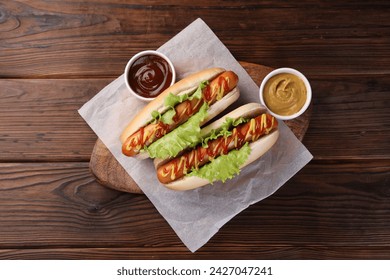
<svg viewBox="0 0 390 280"><path fill-rule="evenodd" d="M240 78L241 96L236 107L259 102L258 86L201 19L158 50L172 60L178 79L204 68L224 67ZM128 92L122 75L84 104L79 113L192 252L235 215L273 194L312 159L290 129L280 122L277 143L239 176L224 184L172 191L158 182L152 160L136 160L121 153L119 135L144 105Z"/></svg>

